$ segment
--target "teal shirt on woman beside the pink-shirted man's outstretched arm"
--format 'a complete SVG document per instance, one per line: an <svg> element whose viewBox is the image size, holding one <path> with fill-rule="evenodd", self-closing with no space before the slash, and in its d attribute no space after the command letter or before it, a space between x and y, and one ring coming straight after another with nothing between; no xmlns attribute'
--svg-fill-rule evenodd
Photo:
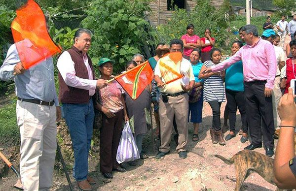
<svg viewBox="0 0 296 191"><path fill-rule="evenodd" d="M242 61L236 62L226 69L225 89L237 92L244 91L244 73Z"/></svg>

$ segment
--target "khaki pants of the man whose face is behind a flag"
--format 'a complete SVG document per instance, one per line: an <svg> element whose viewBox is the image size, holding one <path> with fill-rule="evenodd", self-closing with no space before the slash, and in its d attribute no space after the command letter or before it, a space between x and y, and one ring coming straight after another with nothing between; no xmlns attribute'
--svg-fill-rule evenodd
<svg viewBox="0 0 296 191"><path fill-rule="evenodd" d="M179 133L179 142L176 148L177 152L185 151L188 139L188 94L172 97L168 96L168 102L159 99L159 120L160 120L160 136L161 146L159 151L167 153L170 151L171 135L173 132L173 118L175 115L177 129Z"/></svg>

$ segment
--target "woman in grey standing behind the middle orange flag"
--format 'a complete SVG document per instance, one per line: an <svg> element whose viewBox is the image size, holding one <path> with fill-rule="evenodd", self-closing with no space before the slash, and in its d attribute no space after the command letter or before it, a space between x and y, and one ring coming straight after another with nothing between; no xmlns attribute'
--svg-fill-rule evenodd
<svg viewBox="0 0 296 191"><path fill-rule="evenodd" d="M126 64L126 71L129 71L137 66L135 61L129 61ZM152 85L149 84L147 88L142 92L142 94L137 99L132 99L128 94L125 96L125 103L128 117L131 119L134 117L134 137L137 144L140 158L147 159L148 155L142 151L142 142L145 134L147 133L147 123L146 123L146 113L150 111L150 92L152 90ZM135 163L129 162L129 164L134 165Z"/></svg>

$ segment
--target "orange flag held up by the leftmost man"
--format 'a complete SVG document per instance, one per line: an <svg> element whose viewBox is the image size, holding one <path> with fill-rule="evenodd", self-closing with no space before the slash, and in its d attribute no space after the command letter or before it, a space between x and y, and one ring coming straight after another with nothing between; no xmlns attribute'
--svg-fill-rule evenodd
<svg viewBox="0 0 296 191"><path fill-rule="evenodd" d="M25 69L61 52L47 31L43 11L34 0L17 9L16 15L11 31Z"/></svg>

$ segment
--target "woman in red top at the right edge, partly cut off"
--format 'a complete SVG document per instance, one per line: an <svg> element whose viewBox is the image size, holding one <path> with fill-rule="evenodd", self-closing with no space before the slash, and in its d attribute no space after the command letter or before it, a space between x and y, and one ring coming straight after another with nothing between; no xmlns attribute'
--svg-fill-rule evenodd
<svg viewBox="0 0 296 191"><path fill-rule="evenodd" d="M288 89L290 87L290 82L293 79L296 79L296 39L292 40L290 42L291 47L291 54L292 58L287 60L287 68L286 68L286 74L287 74L287 81L286 81L286 89L285 94L288 94Z"/></svg>

